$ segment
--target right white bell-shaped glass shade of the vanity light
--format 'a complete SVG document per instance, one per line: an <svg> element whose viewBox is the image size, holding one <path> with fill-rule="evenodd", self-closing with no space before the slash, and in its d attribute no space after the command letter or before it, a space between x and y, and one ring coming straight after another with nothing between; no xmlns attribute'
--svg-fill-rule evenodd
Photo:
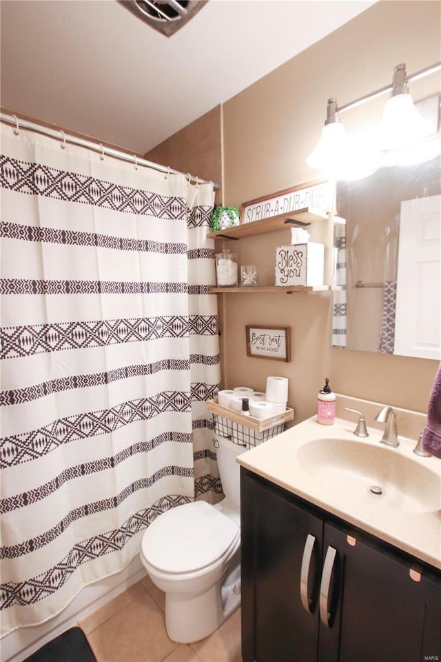
<svg viewBox="0 0 441 662"><path fill-rule="evenodd" d="M397 94L388 99L378 125L378 146L381 150L407 148L431 134L431 123L421 117L410 94Z"/></svg>

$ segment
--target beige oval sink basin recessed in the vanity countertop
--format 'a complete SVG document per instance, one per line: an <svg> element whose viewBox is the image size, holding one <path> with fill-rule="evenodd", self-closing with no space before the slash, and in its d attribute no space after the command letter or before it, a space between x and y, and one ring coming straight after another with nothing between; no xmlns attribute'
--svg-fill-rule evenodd
<svg viewBox="0 0 441 662"><path fill-rule="evenodd" d="M312 439L302 444L296 459L311 479L332 485L345 499L362 496L378 508L441 513L440 475L395 448L369 441Z"/></svg>

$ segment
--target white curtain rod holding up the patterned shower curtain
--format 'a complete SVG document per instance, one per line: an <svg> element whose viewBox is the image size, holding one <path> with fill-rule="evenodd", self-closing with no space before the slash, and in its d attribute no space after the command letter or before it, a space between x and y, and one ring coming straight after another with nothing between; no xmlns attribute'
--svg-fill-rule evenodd
<svg viewBox="0 0 441 662"><path fill-rule="evenodd" d="M43 124L30 122L27 119L17 119L17 117L13 114L1 112L0 121L16 126L17 130L19 130L20 127L23 129L30 129L31 131L42 133L45 136L49 136L50 138L61 140L62 142L79 145L80 147L85 147L88 150L92 150L94 152L101 152L103 156L105 155L107 157L114 157L115 159L121 159L121 161L131 161L134 163L134 165L143 165L145 168L153 168L154 170L159 170L159 172L164 172L165 174L183 174L185 177L187 177L187 179L189 179L190 182L194 181L196 184L212 184L215 191L218 191L220 188L218 183L207 181L206 179L199 179L198 177L194 177L189 172L180 172L180 170L174 170L173 168L168 168L165 165L160 165L159 163L153 163L153 161L147 161L146 159L138 158L136 157L136 154L122 152L121 150L114 150L110 147L104 147L101 143L94 143L90 140L77 138L76 136L66 134L61 129L51 129L47 126L44 126Z"/></svg>

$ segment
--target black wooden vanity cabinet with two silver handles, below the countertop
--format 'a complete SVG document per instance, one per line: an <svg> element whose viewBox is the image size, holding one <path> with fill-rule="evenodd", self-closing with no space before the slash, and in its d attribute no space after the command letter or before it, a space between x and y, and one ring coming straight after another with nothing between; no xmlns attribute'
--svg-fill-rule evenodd
<svg viewBox="0 0 441 662"><path fill-rule="evenodd" d="M243 662L441 661L435 570L244 468L241 521Z"/></svg>

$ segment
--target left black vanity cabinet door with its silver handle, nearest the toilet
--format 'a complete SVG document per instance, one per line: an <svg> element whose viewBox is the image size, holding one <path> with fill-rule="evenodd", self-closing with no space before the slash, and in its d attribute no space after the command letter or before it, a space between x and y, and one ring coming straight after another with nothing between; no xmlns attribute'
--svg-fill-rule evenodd
<svg viewBox="0 0 441 662"><path fill-rule="evenodd" d="M316 662L322 521L243 478L244 662Z"/></svg>

